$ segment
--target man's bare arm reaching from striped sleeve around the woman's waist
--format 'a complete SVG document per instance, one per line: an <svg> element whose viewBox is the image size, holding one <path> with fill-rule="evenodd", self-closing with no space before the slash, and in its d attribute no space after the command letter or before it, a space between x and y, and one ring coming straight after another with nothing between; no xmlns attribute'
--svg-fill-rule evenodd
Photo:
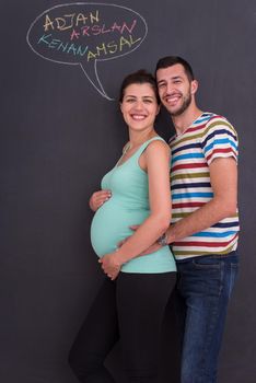
<svg viewBox="0 0 256 383"><path fill-rule="evenodd" d="M179 241L236 213L237 164L233 158L218 158L209 165L213 198L166 231L167 243Z"/></svg>

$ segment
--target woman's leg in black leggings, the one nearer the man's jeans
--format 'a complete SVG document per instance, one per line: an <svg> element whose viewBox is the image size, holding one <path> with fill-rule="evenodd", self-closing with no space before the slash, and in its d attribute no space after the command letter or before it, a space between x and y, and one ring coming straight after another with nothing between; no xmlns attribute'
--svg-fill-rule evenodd
<svg viewBox="0 0 256 383"><path fill-rule="evenodd" d="M120 272L117 278L120 341L129 382L158 382L161 327L175 281L176 272Z"/></svg>

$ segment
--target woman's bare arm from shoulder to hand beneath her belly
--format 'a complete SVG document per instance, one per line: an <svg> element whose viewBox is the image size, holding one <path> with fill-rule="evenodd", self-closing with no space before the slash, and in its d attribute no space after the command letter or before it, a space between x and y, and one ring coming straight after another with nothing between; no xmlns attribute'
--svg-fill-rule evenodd
<svg viewBox="0 0 256 383"><path fill-rule="evenodd" d="M142 160L142 156L141 156ZM126 262L139 256L163 234L171 221L170 149L163 141L153 141L143 153L149 177L150 216L115 253L100 259L104 272L115 275ZM114 279L114 278L113 278Z"/></svg>

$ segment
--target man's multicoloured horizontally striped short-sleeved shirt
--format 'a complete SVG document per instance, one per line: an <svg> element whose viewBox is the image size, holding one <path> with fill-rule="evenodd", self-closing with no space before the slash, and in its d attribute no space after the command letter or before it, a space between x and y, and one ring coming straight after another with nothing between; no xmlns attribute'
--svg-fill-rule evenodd
<svg viewBox="0 0 256 383"><path fill-rule="evenodd" d="M170 140L172 150L172 223L189 216L213 197L209 165L217 158L237 161L237 135L222 116L203 113L181 136ZM223 179L224 182L224 179ZM238 213L172 244L176 259L226 254L237 247Z"/></svg>

